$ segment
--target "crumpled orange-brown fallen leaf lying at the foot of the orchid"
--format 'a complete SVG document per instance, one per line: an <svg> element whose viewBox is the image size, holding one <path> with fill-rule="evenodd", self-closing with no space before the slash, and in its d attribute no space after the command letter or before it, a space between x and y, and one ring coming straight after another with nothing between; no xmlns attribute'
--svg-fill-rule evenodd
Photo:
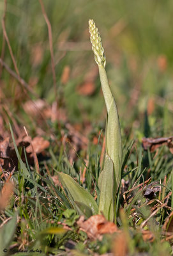
<svg viewBox="0 0 173 256"><path fill-rule="evenodd" d="M94 215L84 221L84 216L81 216L77 221L80 230L86 232L91 240L102 239L102 234L112 234L118 232L116 224L107 221L103 215Z"/></svg>

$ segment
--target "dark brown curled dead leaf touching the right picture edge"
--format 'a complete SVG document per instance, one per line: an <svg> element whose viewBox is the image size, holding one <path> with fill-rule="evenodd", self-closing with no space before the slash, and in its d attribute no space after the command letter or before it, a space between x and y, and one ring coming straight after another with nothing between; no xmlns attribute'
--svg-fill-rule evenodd
<svg viewBox="0 0 173 256"><path fill-rule="evenodd" d="M142 146L144 150L149 150L154 152L157 148L162 147L163 145L167 145L169 147L170 152L173 154L173 136L169 138L142 138Z"/></svg>

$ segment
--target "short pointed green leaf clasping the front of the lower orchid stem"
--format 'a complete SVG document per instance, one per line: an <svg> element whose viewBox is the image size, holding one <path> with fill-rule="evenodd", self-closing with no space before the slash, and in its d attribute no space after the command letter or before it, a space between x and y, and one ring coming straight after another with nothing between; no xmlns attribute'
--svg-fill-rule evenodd
<svg viewBox="0 0 173 256"><path fill-rule="evenodd" d="M99 179L100 203L98 213L104 214L109 221L114 220L114 165L112 159L105 155L105 164Z"/></svg>

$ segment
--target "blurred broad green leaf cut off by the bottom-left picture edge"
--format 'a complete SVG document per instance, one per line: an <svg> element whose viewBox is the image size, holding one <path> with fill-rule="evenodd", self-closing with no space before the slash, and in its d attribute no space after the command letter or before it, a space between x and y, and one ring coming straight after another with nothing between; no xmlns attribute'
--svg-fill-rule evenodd
<svg viewBox="0 0 173 256"><path fill-rule="evenodd" d="M13 218L8 221L8 223L4 224L4 226L0 229L0 255L3 255L1 249L8 248L11 240L13 239L13 235L15 233L17 225L17 212L13 215Z"/></svg>

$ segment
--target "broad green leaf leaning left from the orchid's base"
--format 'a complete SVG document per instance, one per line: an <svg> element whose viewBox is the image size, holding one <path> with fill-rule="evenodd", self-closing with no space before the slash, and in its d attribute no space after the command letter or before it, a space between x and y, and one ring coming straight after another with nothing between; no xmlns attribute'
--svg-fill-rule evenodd
<svg viewBox="0 0 173 256"><path fill-rule="evenodd" d="M70 175L59 173L58 176L66 195L77 212L79 212L79 203L82 203L89 207L93 214L98 213L98 205L96 204L93 196L87 192L86 189L79 186L79 184L75 182ZM78 202L78 205L75 204L75 201ZM79 214L81 214L81 212L79 212Z"/></svg>

